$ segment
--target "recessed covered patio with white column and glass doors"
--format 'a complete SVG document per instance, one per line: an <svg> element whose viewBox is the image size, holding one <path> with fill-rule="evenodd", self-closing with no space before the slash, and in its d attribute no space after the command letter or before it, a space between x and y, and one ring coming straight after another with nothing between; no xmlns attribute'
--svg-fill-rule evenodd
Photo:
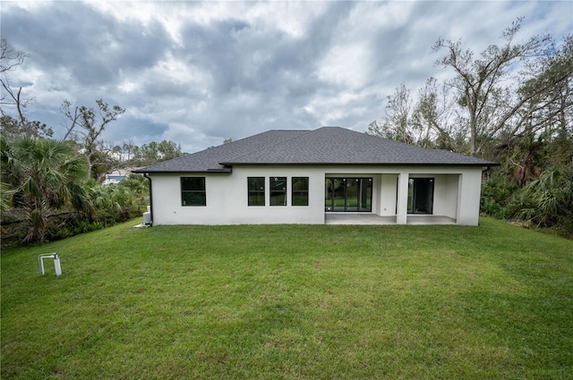
<svg viewBox="0 0 573 380"><path fill-rule="evenodd" d="M324 224L475 225L480 180L481 168L449 166L327 172Z"/></svg>

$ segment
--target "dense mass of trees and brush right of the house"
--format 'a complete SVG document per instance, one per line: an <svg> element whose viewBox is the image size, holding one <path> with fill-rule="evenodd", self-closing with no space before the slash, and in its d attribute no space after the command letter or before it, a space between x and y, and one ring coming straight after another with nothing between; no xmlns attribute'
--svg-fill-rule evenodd
<svg viewBox="0 0 573 380"><path fill-rule="evenodd" d="M438 38L437 64L453 76L426 80L417 97L400 83L366 133L497 161L483 186L484 212L573 236L573 36L517 42L522 24L479 53Z"/></svg>

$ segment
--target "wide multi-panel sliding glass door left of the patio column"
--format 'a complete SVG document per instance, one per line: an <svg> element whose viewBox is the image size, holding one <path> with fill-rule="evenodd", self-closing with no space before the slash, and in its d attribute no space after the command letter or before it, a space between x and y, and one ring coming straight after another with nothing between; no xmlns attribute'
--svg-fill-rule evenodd
<svg viewBox="0 0 573 380"><path fill-rule="evenodd" d="M372 212L372 178L327 177L324 209L332 212Z"/></svg>

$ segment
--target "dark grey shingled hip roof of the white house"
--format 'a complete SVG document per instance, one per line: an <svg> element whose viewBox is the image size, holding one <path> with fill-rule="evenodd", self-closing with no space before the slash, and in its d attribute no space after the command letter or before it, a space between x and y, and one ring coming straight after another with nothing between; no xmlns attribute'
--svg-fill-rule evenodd
<svg viewBox="0 0 573 380"><path fill-rule="evenodd" d="M137 172L229 172L233 165L497 164L446 150L417 148L345 128L322 127L315 131L267 131Z"/></svg>

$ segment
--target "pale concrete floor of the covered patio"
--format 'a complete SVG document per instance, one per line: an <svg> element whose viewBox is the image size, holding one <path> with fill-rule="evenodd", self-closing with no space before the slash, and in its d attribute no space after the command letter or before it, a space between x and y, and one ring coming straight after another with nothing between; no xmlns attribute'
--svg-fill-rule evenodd
<svg viewBox="0 0 573 380"><path fill-rule="evenodd" d="M325 213L324 224L397 224L396 215L366 213ZM407 215L406 224L456 224L456 219L443 215Z"/></svg>

